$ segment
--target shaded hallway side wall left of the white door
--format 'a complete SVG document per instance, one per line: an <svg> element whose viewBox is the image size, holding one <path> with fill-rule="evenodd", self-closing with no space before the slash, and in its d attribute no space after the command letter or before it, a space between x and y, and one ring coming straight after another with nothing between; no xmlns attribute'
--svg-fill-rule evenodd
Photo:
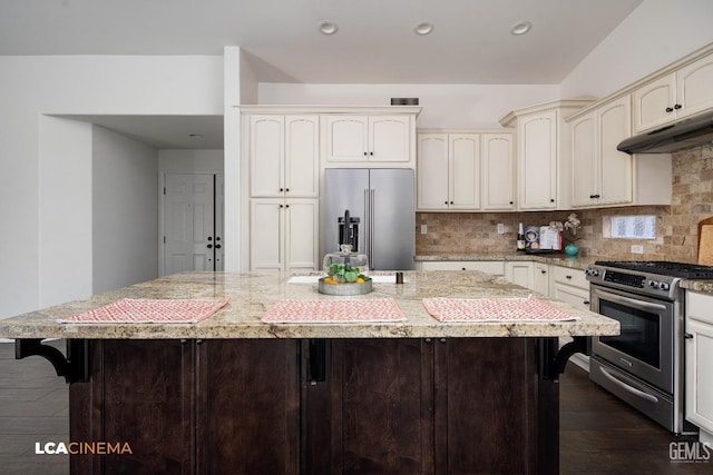
<svg viewBox="0 0 713 475"><path fill-rule="evenodd" d="M91 293L158 277L158 152L92 127Z"/></svg>

